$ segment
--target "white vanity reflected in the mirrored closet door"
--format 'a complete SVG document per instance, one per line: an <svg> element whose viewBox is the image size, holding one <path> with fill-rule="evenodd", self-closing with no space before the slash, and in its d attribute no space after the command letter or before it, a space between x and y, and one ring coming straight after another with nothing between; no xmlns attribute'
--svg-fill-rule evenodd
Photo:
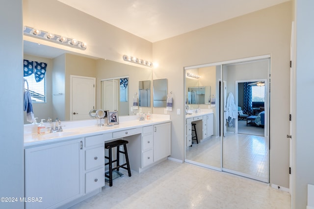
<svg viewBox="0 0 314 209"><path fill-rule="evenodd" d="M211 110L201 111L199 113L193 112L185 116L185 144L186 147L192 145L192 122L196 124L196 132L199 143L202 140L213 135L213 113Z"/></svg>

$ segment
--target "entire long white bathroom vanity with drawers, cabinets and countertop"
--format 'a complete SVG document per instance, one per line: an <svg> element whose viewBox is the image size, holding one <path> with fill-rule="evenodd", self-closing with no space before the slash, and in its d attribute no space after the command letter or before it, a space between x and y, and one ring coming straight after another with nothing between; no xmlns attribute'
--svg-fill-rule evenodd
<svg viewBox="0 0 314 209"><path fill-rule="evenodd" d="M41 197L26 209L68 208L105 186L105 142L128 140L132 172L141 172L171 154L171 120L153 115L119 117L120 124L99 126L99 120L63 122L63 132L39 135L25 126L25 195ZM35 132L34 132L35 131ZM126 177L128 178L128 177Z"/></svg>

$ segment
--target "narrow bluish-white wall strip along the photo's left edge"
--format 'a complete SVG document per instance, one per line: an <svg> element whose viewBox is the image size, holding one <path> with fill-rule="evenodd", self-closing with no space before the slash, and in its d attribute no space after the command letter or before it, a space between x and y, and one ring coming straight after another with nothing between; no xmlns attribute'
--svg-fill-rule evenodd
<svg viewBox="0 0 314 209"><path fill-rule="evenodd" d="M22 0L1 0L0 197L24 197ZM3 31L3 30L1 30ZM23 209L23 202L0 202Z"/></svg>

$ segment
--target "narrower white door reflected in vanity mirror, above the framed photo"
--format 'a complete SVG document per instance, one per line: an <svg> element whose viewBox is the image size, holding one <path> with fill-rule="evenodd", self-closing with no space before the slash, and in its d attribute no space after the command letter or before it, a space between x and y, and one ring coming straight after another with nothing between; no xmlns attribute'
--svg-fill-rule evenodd
<svg viewBox="0 0 314 209"><path fill-rule="evenodd" d="M103 81L103 109L118 111L118 81Z"/></svg>

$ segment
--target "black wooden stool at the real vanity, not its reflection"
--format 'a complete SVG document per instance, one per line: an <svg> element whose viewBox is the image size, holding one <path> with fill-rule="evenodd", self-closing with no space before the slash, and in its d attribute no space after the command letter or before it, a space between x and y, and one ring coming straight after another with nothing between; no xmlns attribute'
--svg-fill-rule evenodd
<svg viewBox="0 0 314 209"><path fill-rule="evenodd" d="M112 172L114 170L119 171L119 168L124 168L128 170L129 176L131 176L131 168L130 168L128 151L127 151L127 143L129 143L129 141L122 140L122 139L105 143L105 149L109 149L109 156L108 157L105 156L105 159L109 160L108 163L105 163L105 165L109 165L109 172L108 174L105 173L105 177L109 179L109 186L112 186ZM123 145L124 152L120 151L120 145ZM113 147L117 147L117 159L114 161L112 160L112 148ZM126 163L122 165L119 164L120 153L124 154L126 157ZM116 163L116 167L112 167L112 163Z"/></svg>

